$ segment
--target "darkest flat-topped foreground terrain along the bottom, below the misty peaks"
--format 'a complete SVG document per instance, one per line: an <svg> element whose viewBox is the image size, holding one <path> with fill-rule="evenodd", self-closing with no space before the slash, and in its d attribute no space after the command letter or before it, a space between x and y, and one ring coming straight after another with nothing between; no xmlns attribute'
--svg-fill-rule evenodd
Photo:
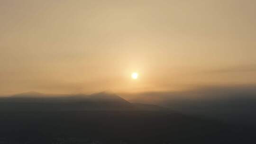
<svg viewBox="0 0 256 144"><path fill-rule="evenodd" d="M0 144L253 144L254 136L166 111L0 112Z"/></svg>

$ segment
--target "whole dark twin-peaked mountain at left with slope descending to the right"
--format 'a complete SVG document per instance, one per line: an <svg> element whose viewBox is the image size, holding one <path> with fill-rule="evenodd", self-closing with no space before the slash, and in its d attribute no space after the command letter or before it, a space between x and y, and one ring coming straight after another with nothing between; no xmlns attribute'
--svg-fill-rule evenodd
<svg viewBox="0 0 256 144"><path fill-rule="evenodd" d="M255 144L254 132L254 128L156 105L130 103L109 92L28 92L0 98L0 135L12 142L7 144L51 144L56 137L80 137L99 144L119 144L120 140L128 144Z"/></svg>

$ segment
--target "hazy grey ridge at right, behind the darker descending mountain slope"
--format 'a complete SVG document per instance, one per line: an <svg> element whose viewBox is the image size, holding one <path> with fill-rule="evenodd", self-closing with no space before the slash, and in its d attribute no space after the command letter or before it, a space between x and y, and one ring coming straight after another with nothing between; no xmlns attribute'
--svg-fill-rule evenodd
<svg viewBox="0 0 256 144"><path fill-rule="evenodd" d="M128 101L153 104L171 108L183 114L200 115L239 125L256 126L256 87L253 88L148 92L132 96Z"/></svg>

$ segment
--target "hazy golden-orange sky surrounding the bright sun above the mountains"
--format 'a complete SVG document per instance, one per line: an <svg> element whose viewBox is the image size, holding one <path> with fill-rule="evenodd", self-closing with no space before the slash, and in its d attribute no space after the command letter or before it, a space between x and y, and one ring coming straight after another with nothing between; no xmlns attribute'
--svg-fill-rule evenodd
<svg viewBox="0 0 256 144"><path fill-rule="evenodd" d="M0 0L0 95L255 83L256 0Z"/></svg>

